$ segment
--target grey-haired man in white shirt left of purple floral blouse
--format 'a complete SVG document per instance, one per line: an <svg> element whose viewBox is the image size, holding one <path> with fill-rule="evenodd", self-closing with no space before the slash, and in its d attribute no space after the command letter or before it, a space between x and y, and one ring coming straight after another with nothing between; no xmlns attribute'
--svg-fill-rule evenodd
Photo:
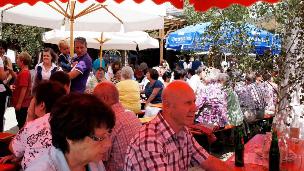
<svg viewBox="0 0 304 171"><path fill-rule="evenodd" d="M197 68L196 70L196 74L193 75L189 80L189 85L193 89L196 99L198 99L199 91L202 89L202 86L204 86L204 84L202 83L202 72L205 72L206 68L207 67L204 65L199 66L199 68Z"/></svg>

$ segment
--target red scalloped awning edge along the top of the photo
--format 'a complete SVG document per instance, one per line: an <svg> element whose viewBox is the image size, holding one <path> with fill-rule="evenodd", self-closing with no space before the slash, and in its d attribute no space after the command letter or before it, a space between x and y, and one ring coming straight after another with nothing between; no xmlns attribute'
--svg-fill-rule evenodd
<svg viewBox="0 0 304 171"><path fill-rule="evenodd" d="M7 5L7 4L19 5L21 3L28 3L30 5L34 5L36 2L39 2L39 1L49 3L54 0L1 0L0 7L3 7L4 5ZM64 3L64 2L67 2L68 0L59 0L59 1ZM78 0L78 1L85 2L87 0ZM105 0L96 0L96 1L98 1L100 3L105 2ZM121 3L124 0L114 0L114 1L117 3ZM141 3L144 0L133 0L133 1L136 3ZM152 1L158 5L162 4L164 2L171 2L171 4L174 5L178 9L183 9L183 7L184 7L184 0L152 0ZM195 11L205 12L212 7L216 7L219 9L225 9L232 4L250 6L258 1L260 1L260 0L189 0L189 3L193 4ZM279 1L280 0L263 0L263 2L268 2L268 3L275 3L275 2L279 2Z"/></svg>

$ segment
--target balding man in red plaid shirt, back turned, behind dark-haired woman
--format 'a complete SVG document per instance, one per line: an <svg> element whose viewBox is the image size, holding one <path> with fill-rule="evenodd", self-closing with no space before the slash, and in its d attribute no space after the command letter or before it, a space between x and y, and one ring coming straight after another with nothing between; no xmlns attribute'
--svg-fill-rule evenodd
<svg viewBox="0 0 304 171"><path fill-rule="evenodd" d="M126 149L131 138L141 127L141 121L133 111L127 110L119 102L118 89L112 82L99 83L94 89L94 94L112 107L116 117L115 126L109 134L112 146L102 157L105 170L122 171L125 165Z"/></svg>

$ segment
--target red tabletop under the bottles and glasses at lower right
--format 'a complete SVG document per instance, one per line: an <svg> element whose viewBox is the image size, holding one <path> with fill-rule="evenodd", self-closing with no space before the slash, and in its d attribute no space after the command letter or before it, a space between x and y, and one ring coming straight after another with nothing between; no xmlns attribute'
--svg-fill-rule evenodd
<svg viewBox="0 0 304 171"><path fill-rule="evenodd" d="M255 135L253 138L251 138L246 144L245 144L245 154L248 153L248 150L249 149L259 149L259 148L262 148L262 142L263 142L263 135L262 134L257 134ZM255 146L255 147L252 147L252 146ZM297 155L301 155L302 156L302 166L301 166L301 169L300 170L304 170L304 141L302 140L299 140L299 143L296 143L295 144L295 154ZM231 162L231 159L233 159L234 157L234 154L226 160L226 164L228 166L230 166L232 169L236 170L236 171L241 171L242 170L242 167L237 167L234 165L234 162ZM245 163L244 165L246 168L249 168L249 163ZM260 171L263 171L265 170L263 168L263 166L259 166L259 170Z"/></svg>

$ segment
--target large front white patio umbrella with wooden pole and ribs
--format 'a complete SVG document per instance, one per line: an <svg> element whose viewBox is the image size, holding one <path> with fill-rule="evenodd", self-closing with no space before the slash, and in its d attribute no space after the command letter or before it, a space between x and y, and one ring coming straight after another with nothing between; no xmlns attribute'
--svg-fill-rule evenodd
<svg viewBox="0 0 304 171"><path fill-rule="evenodd" d="M30 26L45 27L60 30L65 21L70 37L73 38L73 30L119 32L121 25L124 32L140 30L156 30L164 28L165 4L156 5L151 0L137 4L132 0L126 0L120 4L113 0L98 3L88 0L83 3L69 1L62 3L52 1L50 3L37 2L31 6L27 3L20 5L5 5L3 10L3 22ZM70 41L73 47L73 39ZM73 53L71 48L71 54Z"/></svg>

